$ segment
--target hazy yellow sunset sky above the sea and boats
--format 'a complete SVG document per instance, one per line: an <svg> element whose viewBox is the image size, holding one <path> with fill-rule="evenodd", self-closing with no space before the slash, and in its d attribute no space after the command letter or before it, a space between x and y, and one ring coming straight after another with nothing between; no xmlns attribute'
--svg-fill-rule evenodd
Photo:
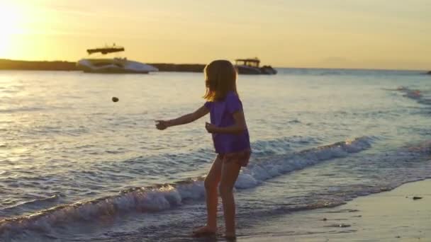
<svg viewBox="0 0 431 242"><path fill-rule="evenodd" d="M431 69L430 0L0 0L0 59Z"/></svg>

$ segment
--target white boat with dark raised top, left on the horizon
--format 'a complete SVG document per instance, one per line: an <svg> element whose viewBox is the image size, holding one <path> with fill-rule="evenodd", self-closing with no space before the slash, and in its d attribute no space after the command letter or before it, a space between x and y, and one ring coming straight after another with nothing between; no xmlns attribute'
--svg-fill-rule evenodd
<svg viewBox="0 0 431 242"><path fill-rule="evenodd" d="M101 53L111 54L114 52L123 52L124 47L106 46L96 49L86 50L89 54ZM77 62L77 68L90 73L140 73L147 74L151 71L159 71L156 67L150 64L144 64L141 62L135 62L128 60L127 58L113 57L113 58L86 58L80 59Z"/></svg>

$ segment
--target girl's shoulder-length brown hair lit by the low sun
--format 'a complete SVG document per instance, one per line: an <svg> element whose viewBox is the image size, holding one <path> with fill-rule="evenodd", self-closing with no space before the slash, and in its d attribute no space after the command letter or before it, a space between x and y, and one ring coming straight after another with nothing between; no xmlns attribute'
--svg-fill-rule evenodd
<svg viewBox="0 0 431 242"><path fill-rule="evenodd" d="M206 92L203 98L208 101L225 99L229 91L237 93L237 71L233 64L224 59L218 59L207 64L205 74Z"/></svg>

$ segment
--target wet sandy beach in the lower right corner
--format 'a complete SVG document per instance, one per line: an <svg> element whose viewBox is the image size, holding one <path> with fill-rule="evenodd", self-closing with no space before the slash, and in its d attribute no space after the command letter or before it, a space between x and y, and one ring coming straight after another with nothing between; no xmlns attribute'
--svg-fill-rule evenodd
<svg viewBox="0 0 431 242"><path fill-rule="evenodd" d="M431 180L265 221L240 241L431 241ZM252 233L252 232L251 232Z"/></svg>

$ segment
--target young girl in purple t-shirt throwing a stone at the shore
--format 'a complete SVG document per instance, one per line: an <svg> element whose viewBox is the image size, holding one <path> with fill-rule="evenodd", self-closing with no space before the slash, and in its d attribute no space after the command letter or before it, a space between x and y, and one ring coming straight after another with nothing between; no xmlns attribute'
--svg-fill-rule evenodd
<svg viewBox="0 0 431 242"><path fill-rule="evenodd" d="M241 166L250 159L250 138L245 124L242 103L237 93L235 67L226 60L216 60L205 67L207 101L194 113L174 120L157 120L157 129L194 122L210 113L211 123L205 128L213 136L217 156L205 179L207 223L194 231L196 236L217 231L218 191L223 202L225 236L235 238L235 201L233 186ZM218 187L218 184L220 186ZM219 188L219 189L218 189Z"/></svg>

